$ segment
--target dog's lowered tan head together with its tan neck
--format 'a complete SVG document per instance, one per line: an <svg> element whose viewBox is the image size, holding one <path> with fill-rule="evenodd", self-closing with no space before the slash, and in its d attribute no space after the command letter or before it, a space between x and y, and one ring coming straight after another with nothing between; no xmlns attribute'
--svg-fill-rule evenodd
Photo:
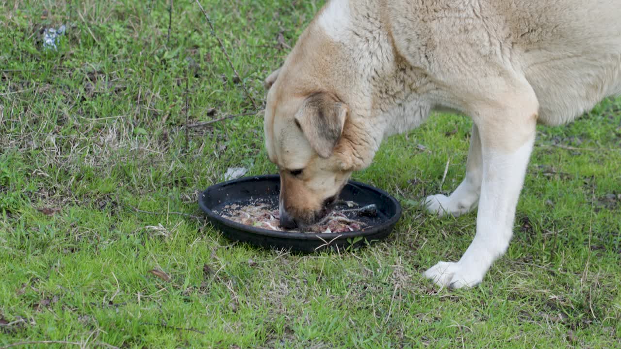
<svg viewBox="0 0 621 349"><path fill-rule="evenodd" d="M383 130L369 122L368 79L355 68L360 62L347 40L330 34L330 23L346 17L338 13L348 11L342 6L347 2L324 7L265 80L265 146L278 165L286 228L328 214L352 171L368 166L381 142Z"/></svg>

